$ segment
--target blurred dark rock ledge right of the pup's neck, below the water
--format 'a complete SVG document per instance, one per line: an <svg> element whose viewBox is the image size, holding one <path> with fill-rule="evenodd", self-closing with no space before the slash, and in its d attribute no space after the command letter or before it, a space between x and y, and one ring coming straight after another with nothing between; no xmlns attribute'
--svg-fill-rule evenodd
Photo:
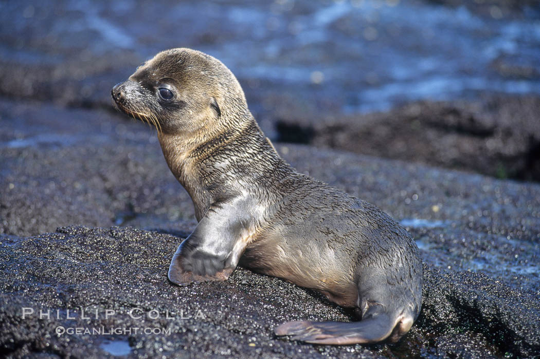
<svg viewBox="0 0 540 359"><path fill-rule="evenodd" d="M279 138L318 147L540 181L540 98L417 102L356 116L283 112Z"/></svg>

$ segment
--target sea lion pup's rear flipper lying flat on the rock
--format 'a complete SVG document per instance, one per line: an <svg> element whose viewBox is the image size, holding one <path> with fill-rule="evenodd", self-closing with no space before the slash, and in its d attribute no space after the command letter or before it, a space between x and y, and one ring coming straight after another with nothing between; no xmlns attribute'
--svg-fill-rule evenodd
<svg viewBox="0 0 540 359"><path fill-rule="evenodd" d="M383 306L369 307L358 322L287 322L274 329L276 335L315 344L367 344L398 341L413 325L416 316L405 310L387 313Z"/></svg>

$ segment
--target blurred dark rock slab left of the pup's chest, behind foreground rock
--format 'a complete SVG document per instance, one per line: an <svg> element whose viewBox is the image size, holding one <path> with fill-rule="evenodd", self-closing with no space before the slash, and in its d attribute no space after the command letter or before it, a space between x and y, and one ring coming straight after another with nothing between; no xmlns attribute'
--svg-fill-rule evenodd
<svg viewBox="0 0 540 359"><path fill-rule="evenodd" d="M32 235L72 223L196 223L187 193L163 176L168 168L156 133L142 123L40 103L0 101L0 109L0 233Z"/></svg>

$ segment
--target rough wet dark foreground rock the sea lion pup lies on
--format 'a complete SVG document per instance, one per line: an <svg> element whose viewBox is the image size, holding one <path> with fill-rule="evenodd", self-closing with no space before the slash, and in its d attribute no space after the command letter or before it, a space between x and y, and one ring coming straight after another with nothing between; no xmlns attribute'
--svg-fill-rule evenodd
<svg viewBox="0 0 540 359"><path fill-rule="evenodd" d="M0 354L103 356L110 350L107 341L128 343L129 354L150 357L484 357L540 350L537 298L482 274L430 266L424 270L422 314L400 343L335 347L277 339L272 328L283 321L343 321L352 313L307 289L241 268L226 282L171 285L166 270L179 241L120 227L62 227L37 237L3 238ZM23 308L34 312L23 319ZM51 314L40 318L40 310ZM106 310L114 314L107 317ZM84 333L102 327L105 333L164 328L170 334ZM83 328L82 334L64 333L69 328Z"/></svg>

